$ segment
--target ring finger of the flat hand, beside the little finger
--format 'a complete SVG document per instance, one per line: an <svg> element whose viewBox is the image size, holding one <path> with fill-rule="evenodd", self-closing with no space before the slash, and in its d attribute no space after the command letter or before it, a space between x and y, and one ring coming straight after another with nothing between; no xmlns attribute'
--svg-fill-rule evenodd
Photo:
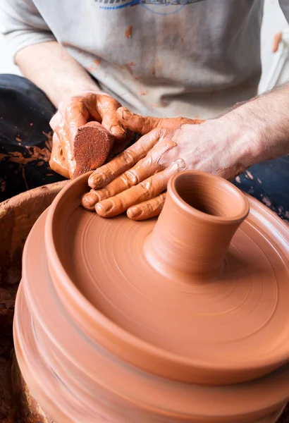
<svg viewBox="0 0 289 423"><path fill-rule="evenodd" d="M125 212L128 208L141 202L157 197L166 190L169 178L176 173L185 170L185 162L182 159L176 160L164 171L150 176L138 185L121 192L115 197L99 202L95 209L102 217L113 217Z"/></svg>

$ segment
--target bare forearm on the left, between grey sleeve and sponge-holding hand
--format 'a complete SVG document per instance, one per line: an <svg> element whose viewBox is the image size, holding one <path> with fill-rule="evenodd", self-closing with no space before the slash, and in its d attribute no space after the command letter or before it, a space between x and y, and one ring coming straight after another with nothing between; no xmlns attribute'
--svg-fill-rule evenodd
<svg viewBox="0 0 289 423"><path fill-rule="evenodd" d="M23 75L44 91L56 107L78 92L99 90L85 68L58 42L42 42L21 49L16 54L16 63Z"/></svg>

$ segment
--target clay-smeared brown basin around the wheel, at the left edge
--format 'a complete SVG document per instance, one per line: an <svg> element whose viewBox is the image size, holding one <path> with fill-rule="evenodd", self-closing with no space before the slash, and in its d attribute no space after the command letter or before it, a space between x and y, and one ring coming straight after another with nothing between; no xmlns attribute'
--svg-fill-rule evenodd
<svg viewBox="0 0 289 423"><path fill-rule="evenodd" d="M44 185L0 203L0 421L3 423L46 422L24 381L18 384L22 378L16 371L17 364L11 384L12 323L25 240L40 214L65 185L66 182Z"/></svg>

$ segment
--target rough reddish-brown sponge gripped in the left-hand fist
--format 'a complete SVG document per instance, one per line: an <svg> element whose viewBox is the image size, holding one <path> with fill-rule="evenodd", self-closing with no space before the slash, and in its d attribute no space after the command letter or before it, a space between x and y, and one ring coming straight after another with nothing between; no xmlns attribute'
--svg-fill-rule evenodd
<svg viewBox="0 0 289 423"><path fill-rule="evenodd" d="M80 126L73 145L75 160L73 178L102 166L109 156L113 142L113 135L98 122L93 121Z"/></svg>

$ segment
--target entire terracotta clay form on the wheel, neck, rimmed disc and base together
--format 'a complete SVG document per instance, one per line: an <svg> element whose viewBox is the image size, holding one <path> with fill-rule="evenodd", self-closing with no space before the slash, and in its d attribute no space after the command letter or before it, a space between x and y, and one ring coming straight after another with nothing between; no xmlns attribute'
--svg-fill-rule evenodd
<svg viewBox="0 0 289 423"><path fill-rule="evenodd" d="M86 186L64 188L25 245L14 342L32 396L56 423L276 422L288 227L207 173L174 176L145 222L85 211Z"/></svg>

